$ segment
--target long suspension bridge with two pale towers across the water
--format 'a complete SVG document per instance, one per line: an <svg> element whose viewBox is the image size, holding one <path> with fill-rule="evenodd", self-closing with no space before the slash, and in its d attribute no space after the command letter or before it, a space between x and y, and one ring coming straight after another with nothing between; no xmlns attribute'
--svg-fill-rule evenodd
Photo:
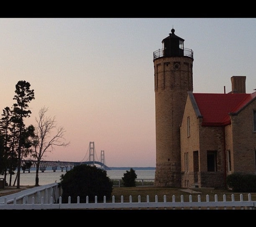
<svg viewBox="0 0 256 227"><path fill-rule="evenodd" d="M87 153L89 152L88 158ZM96 157L96 159L95 159ZM44 172L47 167L52 167L53 172L56 172L58 168L61 169L61 172L63 172L63 169L72 169L74 166L78 166L81 164L86 164L86 165L92 165L92 166L100 166L100 168L105 169L105 170L110 170L110 168L106 165L105 161L105 153L104 151L101 150L100 152L100 160L98 159L96 155L96 150L95 150L95 144L94 142L89 143L89 148L85 154L85 157L77 162L77 161L40 161L40 166L39 169L41 172ZM23 172L28 171L30 172L30 168L36 168L37 161L36 160L22 160L21 166L23 167ZM29 168L26 168L29 167Z"/></svg>

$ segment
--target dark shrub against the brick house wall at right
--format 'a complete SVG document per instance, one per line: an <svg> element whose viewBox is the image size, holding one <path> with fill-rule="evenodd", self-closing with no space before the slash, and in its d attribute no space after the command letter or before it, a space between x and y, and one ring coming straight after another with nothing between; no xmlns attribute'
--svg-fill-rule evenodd
<svg viewBox="0 0 256 227"><path fill-rule="evenodd" d="M227 187L236 193L255 193L256 175L233 173L226 178Z"/></svg>

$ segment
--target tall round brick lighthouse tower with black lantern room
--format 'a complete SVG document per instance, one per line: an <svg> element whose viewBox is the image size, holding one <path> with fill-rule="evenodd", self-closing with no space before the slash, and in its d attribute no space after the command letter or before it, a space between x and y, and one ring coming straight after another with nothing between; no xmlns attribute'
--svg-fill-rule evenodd
<svg viewBox="0 0 256 227"><path fill-rule="evenodd" d="M179 125L188 91L193 91L193 52L174 34L154 52L156 111L155 186L181 187Z"/></svg>

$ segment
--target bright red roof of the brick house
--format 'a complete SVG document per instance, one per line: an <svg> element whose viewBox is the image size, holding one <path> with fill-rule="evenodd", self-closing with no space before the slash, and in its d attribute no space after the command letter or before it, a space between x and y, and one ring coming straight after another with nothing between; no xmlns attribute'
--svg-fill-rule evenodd
<svg viewBox="0 0 256 227"><path fill-rule="evenodd" d="M252 94L211 94L193 93L200 115L203 116L202 126L220 126L231 123L229 113L236 113L256 97Z"/></svg>

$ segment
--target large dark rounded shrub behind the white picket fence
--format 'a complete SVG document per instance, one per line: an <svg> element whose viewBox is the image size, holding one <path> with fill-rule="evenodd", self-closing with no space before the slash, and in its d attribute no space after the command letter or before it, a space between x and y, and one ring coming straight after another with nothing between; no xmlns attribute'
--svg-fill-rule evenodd
<svg viewBox="0 0 256 227"><path fill-rule="evenodd" d="M86 202L86 196L89 202L94 202L95 196L98 201L103 201L104 196L108 200L113 190L107 171L85 164L75 166L65 175L62 174L60 186L63 189L61 197L64 203L67 203L68 196L71 196L71 202L77 202L77 196L81 203Z"/></svg>

